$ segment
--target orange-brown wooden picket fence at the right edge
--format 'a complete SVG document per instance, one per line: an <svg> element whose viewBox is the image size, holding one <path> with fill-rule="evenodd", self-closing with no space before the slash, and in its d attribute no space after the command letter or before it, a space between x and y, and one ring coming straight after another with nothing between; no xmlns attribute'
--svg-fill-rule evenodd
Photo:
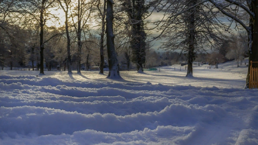
<svg viewBox="0 0 258 145"><path fill-rule="evenodd" d="M249 78L249 89L251 88L258 88L258 68L252 67L252 63L258 63L258 62L252 62L250 65L250 78Z"/></svg>

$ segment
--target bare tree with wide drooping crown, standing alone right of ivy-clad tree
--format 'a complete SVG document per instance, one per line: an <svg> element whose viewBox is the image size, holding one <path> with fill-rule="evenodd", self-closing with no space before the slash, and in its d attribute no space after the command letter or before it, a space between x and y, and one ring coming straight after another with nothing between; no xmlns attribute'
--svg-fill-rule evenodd
<svg viewBox="0 0 258 145"><path fill-rule="evenodd" d="M192 64L197 52L217 48L225 37L224 24L214 9L207 0L167 0L157 8L164 12L164 18L155 23L161 31L159 36L166 40L162 48L186 52L186 76L193 75Z"/></svg>

